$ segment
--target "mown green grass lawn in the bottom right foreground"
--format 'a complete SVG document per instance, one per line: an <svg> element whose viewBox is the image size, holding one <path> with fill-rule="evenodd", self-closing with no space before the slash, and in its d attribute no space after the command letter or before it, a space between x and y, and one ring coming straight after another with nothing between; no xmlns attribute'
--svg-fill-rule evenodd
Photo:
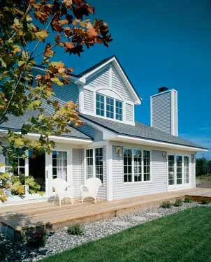
<svg viewBox="0 0 211 262"><path fill-rule="evenodd" d="M211 261L211 208L191 208L42 262Z"/></svg>

